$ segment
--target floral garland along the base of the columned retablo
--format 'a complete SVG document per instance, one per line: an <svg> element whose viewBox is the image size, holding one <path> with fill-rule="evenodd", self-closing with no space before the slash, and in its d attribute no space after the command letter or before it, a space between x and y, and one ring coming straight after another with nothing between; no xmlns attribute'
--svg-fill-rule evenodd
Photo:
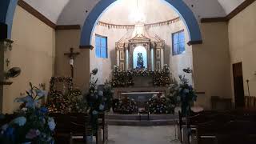
<svg viewBox="0 0 256 144"><path fill-rule="evenodd" d="M134 86L134 76L153 77L154 86L170 85L170 70L167 65L162 70L126 70L121 71L118 66L114 66L113 78L111 80L113 87Z"/></svg>

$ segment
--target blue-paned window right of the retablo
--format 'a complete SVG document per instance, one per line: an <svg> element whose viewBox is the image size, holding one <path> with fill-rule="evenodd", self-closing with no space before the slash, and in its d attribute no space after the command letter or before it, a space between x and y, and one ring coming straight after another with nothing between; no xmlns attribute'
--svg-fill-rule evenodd
<svg viewBox="0 0 256 144"><path fill-rule="evenodd" d="M185 34L184 30L178 31L172 35L173 55L182 54L185 51Z"/></svg>

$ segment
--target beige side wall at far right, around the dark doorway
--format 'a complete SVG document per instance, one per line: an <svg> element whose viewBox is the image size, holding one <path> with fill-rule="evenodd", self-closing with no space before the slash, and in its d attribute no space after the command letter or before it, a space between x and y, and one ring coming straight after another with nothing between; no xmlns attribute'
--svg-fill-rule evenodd
<svg viewBox="0 0 256 144"><path fill-rule="evenodd" d="M250 80L250 95L256 96L256 2L232 18L228 24L231 65L242 62L245 95ZM232 70L231 70L232 74ZM233 79L233 78L232 78ZM233 82L231 83L232 88ZM234 90L232 90L234 93Z"/></svg>

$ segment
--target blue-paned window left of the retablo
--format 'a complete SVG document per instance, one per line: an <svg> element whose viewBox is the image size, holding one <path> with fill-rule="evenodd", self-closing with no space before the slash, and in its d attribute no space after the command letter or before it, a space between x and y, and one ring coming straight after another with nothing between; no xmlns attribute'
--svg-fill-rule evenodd
<svg viewBox="0 0 256 144"><path fill-rule="evenodd" d="M95 52L97 58L107 58L107 38L96 34Z"/></svg>

